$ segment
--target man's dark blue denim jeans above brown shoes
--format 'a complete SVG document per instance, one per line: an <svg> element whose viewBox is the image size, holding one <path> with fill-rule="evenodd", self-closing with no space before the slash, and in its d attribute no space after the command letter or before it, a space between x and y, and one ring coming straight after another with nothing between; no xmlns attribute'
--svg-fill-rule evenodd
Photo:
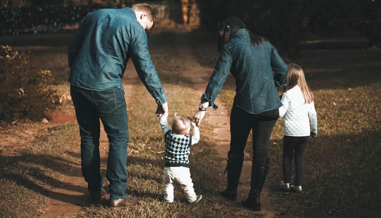
<svg viewBox="0 0 381 218"><path fill-rule="evenodd" d="M113 87L104 91L85 90L70 85L81 136L82 175L90 193L100 192L103 177L100 173L99 135L101 119L109 139L106 178L110 198L124 198L128 177L126 170L128 125L124 92Z"/></svg>

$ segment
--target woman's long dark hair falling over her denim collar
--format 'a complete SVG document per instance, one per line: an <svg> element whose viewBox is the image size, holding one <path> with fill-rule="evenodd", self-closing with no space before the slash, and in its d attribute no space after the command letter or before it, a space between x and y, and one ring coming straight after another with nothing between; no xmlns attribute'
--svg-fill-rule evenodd
<svg viewBox="0 0 381 218"><path fill-rule="evenodd" d="M227 26L229 26L229 28L227 28ZM239 29L247 28L245 24L241 21L241 19L236 17L229 17L219 24L219 34L217 41L218 51L221 51L222 47L234 37L235 32L237 32L237 30ZM221 32L223 33L222 36L220 34ZM261 43L268 41L266 38L260 37L259 35L255 35L250 31L249 33L250 43L253 46L258 46L261 45Z"/></svg>

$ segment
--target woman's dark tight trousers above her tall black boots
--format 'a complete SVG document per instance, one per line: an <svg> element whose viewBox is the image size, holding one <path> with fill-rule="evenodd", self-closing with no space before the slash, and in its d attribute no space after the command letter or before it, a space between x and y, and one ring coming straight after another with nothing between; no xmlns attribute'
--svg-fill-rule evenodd
<svg viewBox="0 0 381 218"><path fill-rule="evenodd" d="M253 155L254 158L267 157L272 128L279 117L279 109L250 114L240 107L233 107L230 115L230 154L242 156L250 130L253 129Z"/></svg>

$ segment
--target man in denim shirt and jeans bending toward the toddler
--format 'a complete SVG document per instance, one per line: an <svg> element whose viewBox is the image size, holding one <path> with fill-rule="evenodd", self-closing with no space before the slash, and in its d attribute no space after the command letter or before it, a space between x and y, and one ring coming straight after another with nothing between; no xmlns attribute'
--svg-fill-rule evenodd
<svg viewBox="0 0 381 218"><path fill-rule="evenodd" d="M99 201L106 194L99 172L100 118L110 143L106 177L112 208L138 201L126 197L128 125L121 78L130 57L158 104L156 114L168 114L167 99L147 46L145 30L155 23L154 10L144 4L94 11L78 27L68 48L70 95L81 136L82 175L88 183L90 200Z"/></svg>

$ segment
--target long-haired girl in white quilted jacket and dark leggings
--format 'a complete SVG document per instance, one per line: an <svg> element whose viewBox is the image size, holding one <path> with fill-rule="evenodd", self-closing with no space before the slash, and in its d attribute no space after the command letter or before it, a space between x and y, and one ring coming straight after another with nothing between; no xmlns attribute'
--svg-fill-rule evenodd
<svg viewBox="0 0 381 218"><path fill-rule="evenodd" d="M279 108L279 117L283 117L283 191L293 189L302 192L304 174L304 151L308 138L317 136L317 117L314 106L314 95L306 83L304 72L297 64L288 65L288 84L282 95L283 106ZM308 118L309 116L309 118ZM311 120L311 130L310 123ZM295 183L291 183L291 160L294 156Z"/></svg>

